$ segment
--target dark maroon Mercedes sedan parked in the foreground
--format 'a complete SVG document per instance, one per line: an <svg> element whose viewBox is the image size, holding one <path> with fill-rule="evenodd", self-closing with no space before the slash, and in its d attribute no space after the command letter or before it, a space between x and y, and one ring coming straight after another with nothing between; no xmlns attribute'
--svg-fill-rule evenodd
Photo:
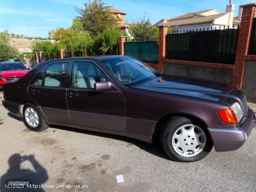
<svg viewBox="0 0 256 192"><path fill-rule="evenodd" d="M179 162L200 160L213 145L240 148L256 122L238 88L164 75L127 56L45 61L3 94L3 106L32 131L61 125L160 140Z"/></svg>

